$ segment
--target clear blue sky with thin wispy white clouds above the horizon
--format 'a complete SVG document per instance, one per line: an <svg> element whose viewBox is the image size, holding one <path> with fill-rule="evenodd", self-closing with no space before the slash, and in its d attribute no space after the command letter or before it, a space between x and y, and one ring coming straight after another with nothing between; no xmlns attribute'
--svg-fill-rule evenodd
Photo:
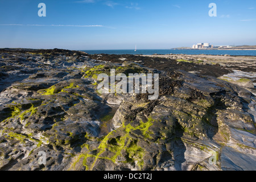
<svg viewBox="0 0 256 182"><path fill-rule="evenodd" d="M39 3L46 17L39 17ZM210 17L216 3L217 17ZM0 48L256 45L255 0L0 0Z"/></svg>

